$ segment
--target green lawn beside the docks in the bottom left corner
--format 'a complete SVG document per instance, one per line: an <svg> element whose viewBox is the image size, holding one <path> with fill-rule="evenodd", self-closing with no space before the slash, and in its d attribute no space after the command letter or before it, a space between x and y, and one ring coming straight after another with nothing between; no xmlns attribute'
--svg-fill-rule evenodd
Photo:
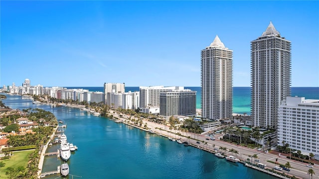
<svg viewBox="0 0 319 179"><path fill-rule="evenodd" d="M0 169L0 179L6 179L5 170L9 167L26 167L28 163L28 156L32 151L33 150L13 152L13 156L11 156L10 159L0 160L0 162L5 164L5 166Z"/></svg>

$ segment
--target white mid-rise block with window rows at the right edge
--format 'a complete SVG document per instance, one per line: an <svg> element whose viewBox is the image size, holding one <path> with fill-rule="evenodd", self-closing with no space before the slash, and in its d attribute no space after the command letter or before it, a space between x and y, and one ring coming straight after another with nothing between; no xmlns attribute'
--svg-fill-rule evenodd
<svg viewBox="0 0 319 179"><path fill-rule="evenodd" d="M278 109L278 142L319 160L319 99L287 97Z"/></svg>

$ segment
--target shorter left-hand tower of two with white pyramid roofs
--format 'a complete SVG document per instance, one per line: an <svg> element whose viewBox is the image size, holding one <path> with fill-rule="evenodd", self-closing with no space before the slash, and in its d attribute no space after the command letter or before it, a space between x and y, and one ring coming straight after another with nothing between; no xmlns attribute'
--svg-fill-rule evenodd
<svg viewBox="0 0 319 179"><path fill-rule="evenodd" d="M233 51L216 35L201 51L202 118L230 119L233 105Z"/></svg>

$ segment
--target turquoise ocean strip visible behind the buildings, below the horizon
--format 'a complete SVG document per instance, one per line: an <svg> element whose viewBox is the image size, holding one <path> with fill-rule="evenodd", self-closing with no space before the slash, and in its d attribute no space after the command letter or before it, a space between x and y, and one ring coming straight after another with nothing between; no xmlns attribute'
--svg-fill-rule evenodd
<svg viewBox="0 0 319 179"><path fill-rule="evenodd" d="M89 89L90 91L101 91L103 87L66 87L68 89ZM184 87L197 91L196 108L201 108L201 87ZM139 87L126 87L125 91L139 91ZM292 87L292 96L305 97L306 99L319 99L319 87ZM233 87L233 113L250 115L250 87Z"/></svg>

